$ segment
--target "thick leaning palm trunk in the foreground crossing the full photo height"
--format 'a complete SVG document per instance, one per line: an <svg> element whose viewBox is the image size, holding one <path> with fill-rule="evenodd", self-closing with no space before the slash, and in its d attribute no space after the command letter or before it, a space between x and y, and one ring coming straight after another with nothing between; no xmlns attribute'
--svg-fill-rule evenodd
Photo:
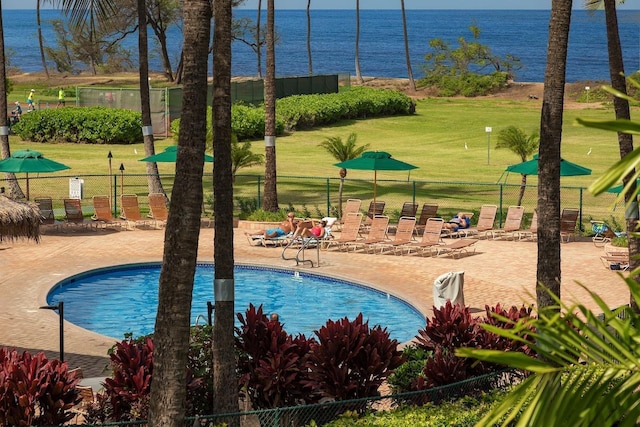
<svg viewBox="0 0 640 427"><path fill-rule="evenodd" d="M167 427L184 426L185 366L200 234L204 169L202 158L207 132L207 92L202 88L207 86L207 53L211 40L209 0L185 0L183 11L184 96L176 175L160 271L149 408L149 424ZM224 264L216 268L218 267L224 271ZM216 322L218 314L216 313ZM227 392L231 389L235 388L228 388ZM222 393L216 397L224 399L225 394L235 393Z"/></svg>

